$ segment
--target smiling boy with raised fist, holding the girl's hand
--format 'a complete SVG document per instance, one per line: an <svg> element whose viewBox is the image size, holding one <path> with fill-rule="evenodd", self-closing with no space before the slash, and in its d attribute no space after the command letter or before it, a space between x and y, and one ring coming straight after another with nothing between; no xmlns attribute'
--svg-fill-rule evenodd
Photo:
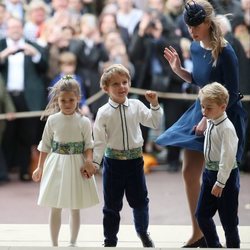
<svg viewBox="0 0 250 250"><path fill-rule="evenodd" d="M124 193L133 209L135 229L144 247L154 247L147 232L148 191L143 171L143 138L140 124L158 128L163 111L156 92L147 91L150 109L141 101L128 99L131 77L121 64L104 70L100 86L109 101L97 112L94 123L94 162L103 159L104 246L117 245ZM104 155L104 158L103 158Z"/></svg>

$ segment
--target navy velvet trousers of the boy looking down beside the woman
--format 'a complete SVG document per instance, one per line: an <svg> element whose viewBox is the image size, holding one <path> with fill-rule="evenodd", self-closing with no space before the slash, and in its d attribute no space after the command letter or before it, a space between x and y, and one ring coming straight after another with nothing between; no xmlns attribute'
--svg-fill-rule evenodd
<svg viewBox="0 0 250 250"><path fill-rule="evenodd" d="M240 190L239 169L231 171L220 198L211 194L217 180L217 171L205 169L202 176L201 193L196 209L198 224L205 236L207 246L221 247L213 216L218 211L225 232L227 248L240 248L238 232L238 197Z"/></svg>

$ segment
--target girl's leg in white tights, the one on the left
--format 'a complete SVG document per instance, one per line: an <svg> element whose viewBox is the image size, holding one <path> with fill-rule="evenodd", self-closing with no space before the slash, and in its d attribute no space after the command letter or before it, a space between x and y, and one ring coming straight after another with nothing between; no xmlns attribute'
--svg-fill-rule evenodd
<svg viewBox="0 0 250 250"><path fill-rule="evenodd" d="M51 208L49 216L50 237L52 246L58 246L58 235L61 227L61 208Z"/></svg>

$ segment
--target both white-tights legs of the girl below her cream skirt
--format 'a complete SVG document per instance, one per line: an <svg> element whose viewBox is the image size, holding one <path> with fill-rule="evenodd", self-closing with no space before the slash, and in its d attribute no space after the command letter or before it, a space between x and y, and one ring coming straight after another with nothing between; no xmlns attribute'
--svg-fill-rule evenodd
<svg viewBox="0 0 250 250"><path fill-rule="evenodd" d="M50 226L50 237L52 241L52 246L58 246L58 236L61 227L61 208L51 208L49 216L49 226ZM69 217L70 225L70 245L75 245L78 232L80 229L80 210L72 209L70 210Z"/></svg>

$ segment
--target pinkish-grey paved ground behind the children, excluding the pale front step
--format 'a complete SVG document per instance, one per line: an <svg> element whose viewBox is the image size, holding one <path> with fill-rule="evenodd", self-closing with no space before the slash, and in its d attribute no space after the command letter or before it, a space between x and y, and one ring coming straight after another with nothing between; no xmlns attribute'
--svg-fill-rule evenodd
<svg viewBox="0 0 250 250"><path fill-rule="evenodd" d="M46 224L49 210L36 204L39 184L20 182L15 175L11 178L10 183L0 186L0 224ZM160 166L147 174L146 179L150 197L150 224L190 225L181 172L168 173L164 166ZM96 181L101 202L93 208L82 210L83 224L102 224L100 175L96 176ZM64 211L63 223L68 222L67 217L67 211ZM249 173L241 173L239 218L240 225L250 226ZM132 212L126 201L121 212L121 224L133 224Z"/></svg>

